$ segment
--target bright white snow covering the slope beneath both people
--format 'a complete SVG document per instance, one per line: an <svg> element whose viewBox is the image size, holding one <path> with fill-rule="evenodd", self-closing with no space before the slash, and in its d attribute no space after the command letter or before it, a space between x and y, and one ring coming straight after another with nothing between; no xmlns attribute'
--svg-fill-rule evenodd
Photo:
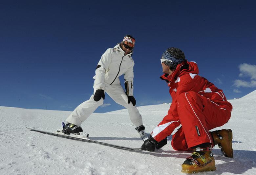
<svg viewBox="0 0 256 175"><path fill-rule="evenodd" d="M233 131L234 158L213 149L216 171L202 174L256 174L256 90L229 100L230 121L217 129ZM138 107L147 132L167 114L170 104ZM131 152L94 143L84 143L32 132L26 127L55 131L71 112L0 107L0 174L155 175L184 174L181 164L190 155L168 144L156 152ZM94 140L126 147L141 147L143 141L129 120L126 109L93 113L83 124Z"/></svg>

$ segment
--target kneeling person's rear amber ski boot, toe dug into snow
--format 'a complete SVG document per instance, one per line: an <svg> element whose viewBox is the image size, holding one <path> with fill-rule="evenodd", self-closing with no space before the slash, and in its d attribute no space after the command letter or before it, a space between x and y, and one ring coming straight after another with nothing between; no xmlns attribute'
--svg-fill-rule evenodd
<svg viewBox="0 0 256 175"><path fill-rule="evenodd" d="M224 156L233 158L232 131L230 129L217 130L212 131L211 133L214 140L214 144L219 146Z"/></svg>

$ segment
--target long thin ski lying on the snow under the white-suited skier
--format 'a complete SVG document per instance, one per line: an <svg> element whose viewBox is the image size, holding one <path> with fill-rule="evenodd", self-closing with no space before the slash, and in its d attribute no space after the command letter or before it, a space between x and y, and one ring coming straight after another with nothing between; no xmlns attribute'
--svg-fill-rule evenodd
<svg viewBox="0 0 256 175"><path fill-rule="evenodd" d="M77 141L81 141L81 142L96 143L96 144L99 144L99 145L105 145L105 146L109 146L109 147L117 148L117 149L123 149L123 150L129 150L129 151L142 151L141 148L124 147L124 146L114 145L114 144L110 144L110 143L99 142L99 141L92 140L92 139L89 139L89 138L80 138L80 137L75 137L75 136L71 136L71 135L55 133L55 132L41 131L41 130L37 130L37 129L33 129L33 128L27 128L27 129L29 129L31 131L36 131L36 132L40 132L40 133L44 133L44 134L57 136L57 137L77 140Z"/></svg>

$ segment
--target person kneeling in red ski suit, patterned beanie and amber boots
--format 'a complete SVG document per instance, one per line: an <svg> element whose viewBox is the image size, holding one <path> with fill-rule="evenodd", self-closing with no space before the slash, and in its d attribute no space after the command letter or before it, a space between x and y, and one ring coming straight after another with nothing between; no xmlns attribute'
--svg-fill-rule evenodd
<svg viewBox="0 0 256 175"><path fill-rule="evenodd" d="M161 148L167 144L167 136L181 125L172 137L173 149L194 150L182 164L182 172L216 170L211 149L218 144L225 156L233 157L232 131L210 130L228 122L232 105L221 89L198 75L197 64L185 60L180 49L171 47L164 51L161 65L164 75L160 78L170 87L172 103L142 149Z"/></svg>

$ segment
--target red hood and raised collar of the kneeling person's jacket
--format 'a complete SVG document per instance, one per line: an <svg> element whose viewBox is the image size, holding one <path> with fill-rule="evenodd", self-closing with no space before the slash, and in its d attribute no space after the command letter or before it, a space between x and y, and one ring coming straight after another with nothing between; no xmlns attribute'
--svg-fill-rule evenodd
<svg viewBox="0 0 256 175"><path fill-rule="evenodd" d="M198 74L199 69L197 66L197 63L194 61L183 61L182 63L178 64L175 71L171 74L163 74L160 79L166 80L168 83L171 82L173 79L176 79L179 76L185 75L185 74Z"/></svg>

